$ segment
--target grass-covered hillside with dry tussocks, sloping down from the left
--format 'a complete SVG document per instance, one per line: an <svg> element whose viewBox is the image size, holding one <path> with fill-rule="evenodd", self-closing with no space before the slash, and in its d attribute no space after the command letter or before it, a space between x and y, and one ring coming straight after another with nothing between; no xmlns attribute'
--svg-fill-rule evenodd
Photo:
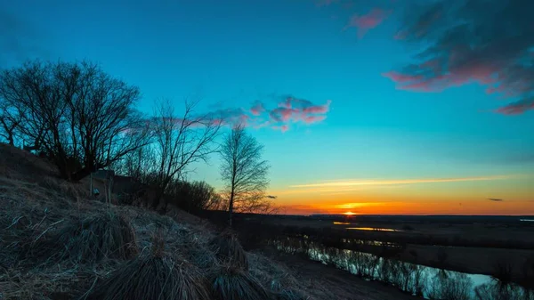
<svg viewBox="0 0 534 300"><path fill-rule="evenodd" d="M179 210L88 199L87 186L0 144L0 299L408 298L297 257L286 257L290 269L247 253Z"/></svg>

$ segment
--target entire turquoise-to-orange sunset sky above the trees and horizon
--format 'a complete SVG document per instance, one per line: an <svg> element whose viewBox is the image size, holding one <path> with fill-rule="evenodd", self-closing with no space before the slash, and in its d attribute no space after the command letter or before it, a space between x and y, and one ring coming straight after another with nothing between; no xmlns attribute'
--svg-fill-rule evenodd
<svg viewBox="0 0 534 300"><path fill-rule="evenodd" d="M245 121L287 214L534 215L530 0L19 0L0 68L90 60ZM228 130L228 129L226 129ZM221 187L217 157L194 180Z"/></svg>

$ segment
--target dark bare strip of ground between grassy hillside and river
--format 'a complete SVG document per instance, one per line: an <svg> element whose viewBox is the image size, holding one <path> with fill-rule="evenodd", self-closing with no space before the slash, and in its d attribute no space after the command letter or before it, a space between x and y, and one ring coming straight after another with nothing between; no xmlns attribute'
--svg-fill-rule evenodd
<svg viewBox="0 0 534 300"><path fill-rule="evenodd" d="M296 255L264 250L263 255L285 264L316 300L415 300L399 289L377 281L362 280L348 272Z"/></svg>

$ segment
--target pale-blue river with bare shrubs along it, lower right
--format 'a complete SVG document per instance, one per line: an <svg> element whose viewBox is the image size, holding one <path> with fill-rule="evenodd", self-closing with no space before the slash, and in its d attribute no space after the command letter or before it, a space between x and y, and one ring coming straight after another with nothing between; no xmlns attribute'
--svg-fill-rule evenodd
<svg viewBox="0 0 534 300"><path fill-rule="evenodd" d="M324 247L309 239L286 238L269 242L286 253L303 254L322 264L366 280L391 284L426 299L534 300L533 291L514 284L500 284L487 275L441 270L358 251Z"/></svg>

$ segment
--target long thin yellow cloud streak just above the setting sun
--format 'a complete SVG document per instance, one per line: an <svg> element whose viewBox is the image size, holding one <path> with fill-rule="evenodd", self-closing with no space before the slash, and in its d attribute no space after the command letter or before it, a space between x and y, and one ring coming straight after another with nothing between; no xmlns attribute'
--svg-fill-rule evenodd
<svg viewBox="0 0 534 300"><path fill-rule="evenodd" d="M424 179L399 179L399 180L351 180L340 182L318 182L310 184L291 185L290 188L325 188L325 187L351 187L351 186L380 186L380 185L395 185L395 184L420 184L420 183L434 183L434 182L474 182L474 181L490 181L490 180L504 180L511 178L510 175L499 176L481 176L481 177L459 177L459 178L424 178Z"/></svg>

